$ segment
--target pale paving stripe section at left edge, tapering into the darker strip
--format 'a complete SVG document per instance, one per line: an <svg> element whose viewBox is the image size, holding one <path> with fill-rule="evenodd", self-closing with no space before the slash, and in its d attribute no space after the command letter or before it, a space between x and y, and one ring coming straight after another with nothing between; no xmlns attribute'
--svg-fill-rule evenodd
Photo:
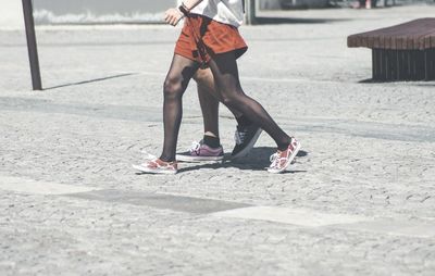
<svg viewBox="0 0 435 276"><path fill-rule="evenodd" d="M30 195L65 195L97 190L97 188L94 187L37 181L11 176L0 176L0 189Z"/></svg>

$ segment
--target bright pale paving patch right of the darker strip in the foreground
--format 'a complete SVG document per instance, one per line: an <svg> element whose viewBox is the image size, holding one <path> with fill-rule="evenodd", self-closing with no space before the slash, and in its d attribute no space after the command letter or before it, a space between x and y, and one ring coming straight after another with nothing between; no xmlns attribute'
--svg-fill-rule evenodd
<svg viewBox="0 0 435 276"><path fill-rule="evenodd" d="M274 223L291 224L304 227L320 227L336 224L355 224L373 218L346 215L319 213L306 209L287 209L275 206L251 206L214 213L215 216L260 219Z"/></svg>

